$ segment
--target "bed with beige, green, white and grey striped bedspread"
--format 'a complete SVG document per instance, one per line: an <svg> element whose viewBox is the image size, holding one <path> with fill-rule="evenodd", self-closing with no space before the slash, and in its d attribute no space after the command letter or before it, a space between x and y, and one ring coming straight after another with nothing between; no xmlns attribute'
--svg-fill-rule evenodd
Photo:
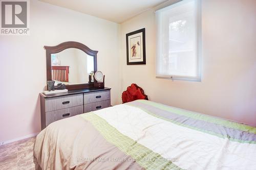
<svg viewBox="0 0 256 170"><path fill-rule="evenodd" d="M36 169L256 169L256 128L136 100L50 124L33 154Z"/></svg>

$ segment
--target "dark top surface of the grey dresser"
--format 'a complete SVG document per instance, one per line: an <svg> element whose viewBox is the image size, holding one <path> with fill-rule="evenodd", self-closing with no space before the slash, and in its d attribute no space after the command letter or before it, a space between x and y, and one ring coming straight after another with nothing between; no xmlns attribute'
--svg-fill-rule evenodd
<svg viewBox="0 0 256 170"><path fill-rule="evenodd" d="M110 89L111 88L108 88L108 87L105 87L105 88L89 87L89 88L85 88L85 89L69 90L68 92L55 93L55 94L40 93L40 95L47 99L47 98L55 98L55 97L63 96L63 95L71 95L71 94L86 93L86 92L92 92L92 91L110 90Z"/></svg>

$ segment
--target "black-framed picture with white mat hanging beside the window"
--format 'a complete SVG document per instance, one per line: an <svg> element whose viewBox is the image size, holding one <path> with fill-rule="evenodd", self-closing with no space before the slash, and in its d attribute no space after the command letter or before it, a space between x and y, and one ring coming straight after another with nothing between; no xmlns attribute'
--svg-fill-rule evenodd
<svg viewBox="0 0 256 170"><path fill-rule="evenodd" d="M126 34L126 62L146 64L145 28Z"/></svg>

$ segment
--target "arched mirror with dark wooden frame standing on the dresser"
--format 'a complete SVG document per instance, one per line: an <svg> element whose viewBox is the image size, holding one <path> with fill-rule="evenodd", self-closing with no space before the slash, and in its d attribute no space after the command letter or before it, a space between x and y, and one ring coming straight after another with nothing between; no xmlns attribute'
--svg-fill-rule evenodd
<svg viewBox="0 0 256 170"><path fill-rule="evenodd" d="M93 83L88 81L88 74L97 71L98 51L74 41L44 47L47 81L55 80L58 83L64 83L68 90L93 87Z"/></svg>

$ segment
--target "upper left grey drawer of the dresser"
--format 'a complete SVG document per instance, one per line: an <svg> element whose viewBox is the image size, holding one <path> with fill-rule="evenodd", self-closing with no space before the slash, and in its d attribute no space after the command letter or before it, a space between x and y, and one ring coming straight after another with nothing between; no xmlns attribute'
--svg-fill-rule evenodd
<svg viewBox="0 0 256 170"><path fill-rule="evenodd" d="M46 99L46 112L83 105L83 94L72 94Z"/></svg>

